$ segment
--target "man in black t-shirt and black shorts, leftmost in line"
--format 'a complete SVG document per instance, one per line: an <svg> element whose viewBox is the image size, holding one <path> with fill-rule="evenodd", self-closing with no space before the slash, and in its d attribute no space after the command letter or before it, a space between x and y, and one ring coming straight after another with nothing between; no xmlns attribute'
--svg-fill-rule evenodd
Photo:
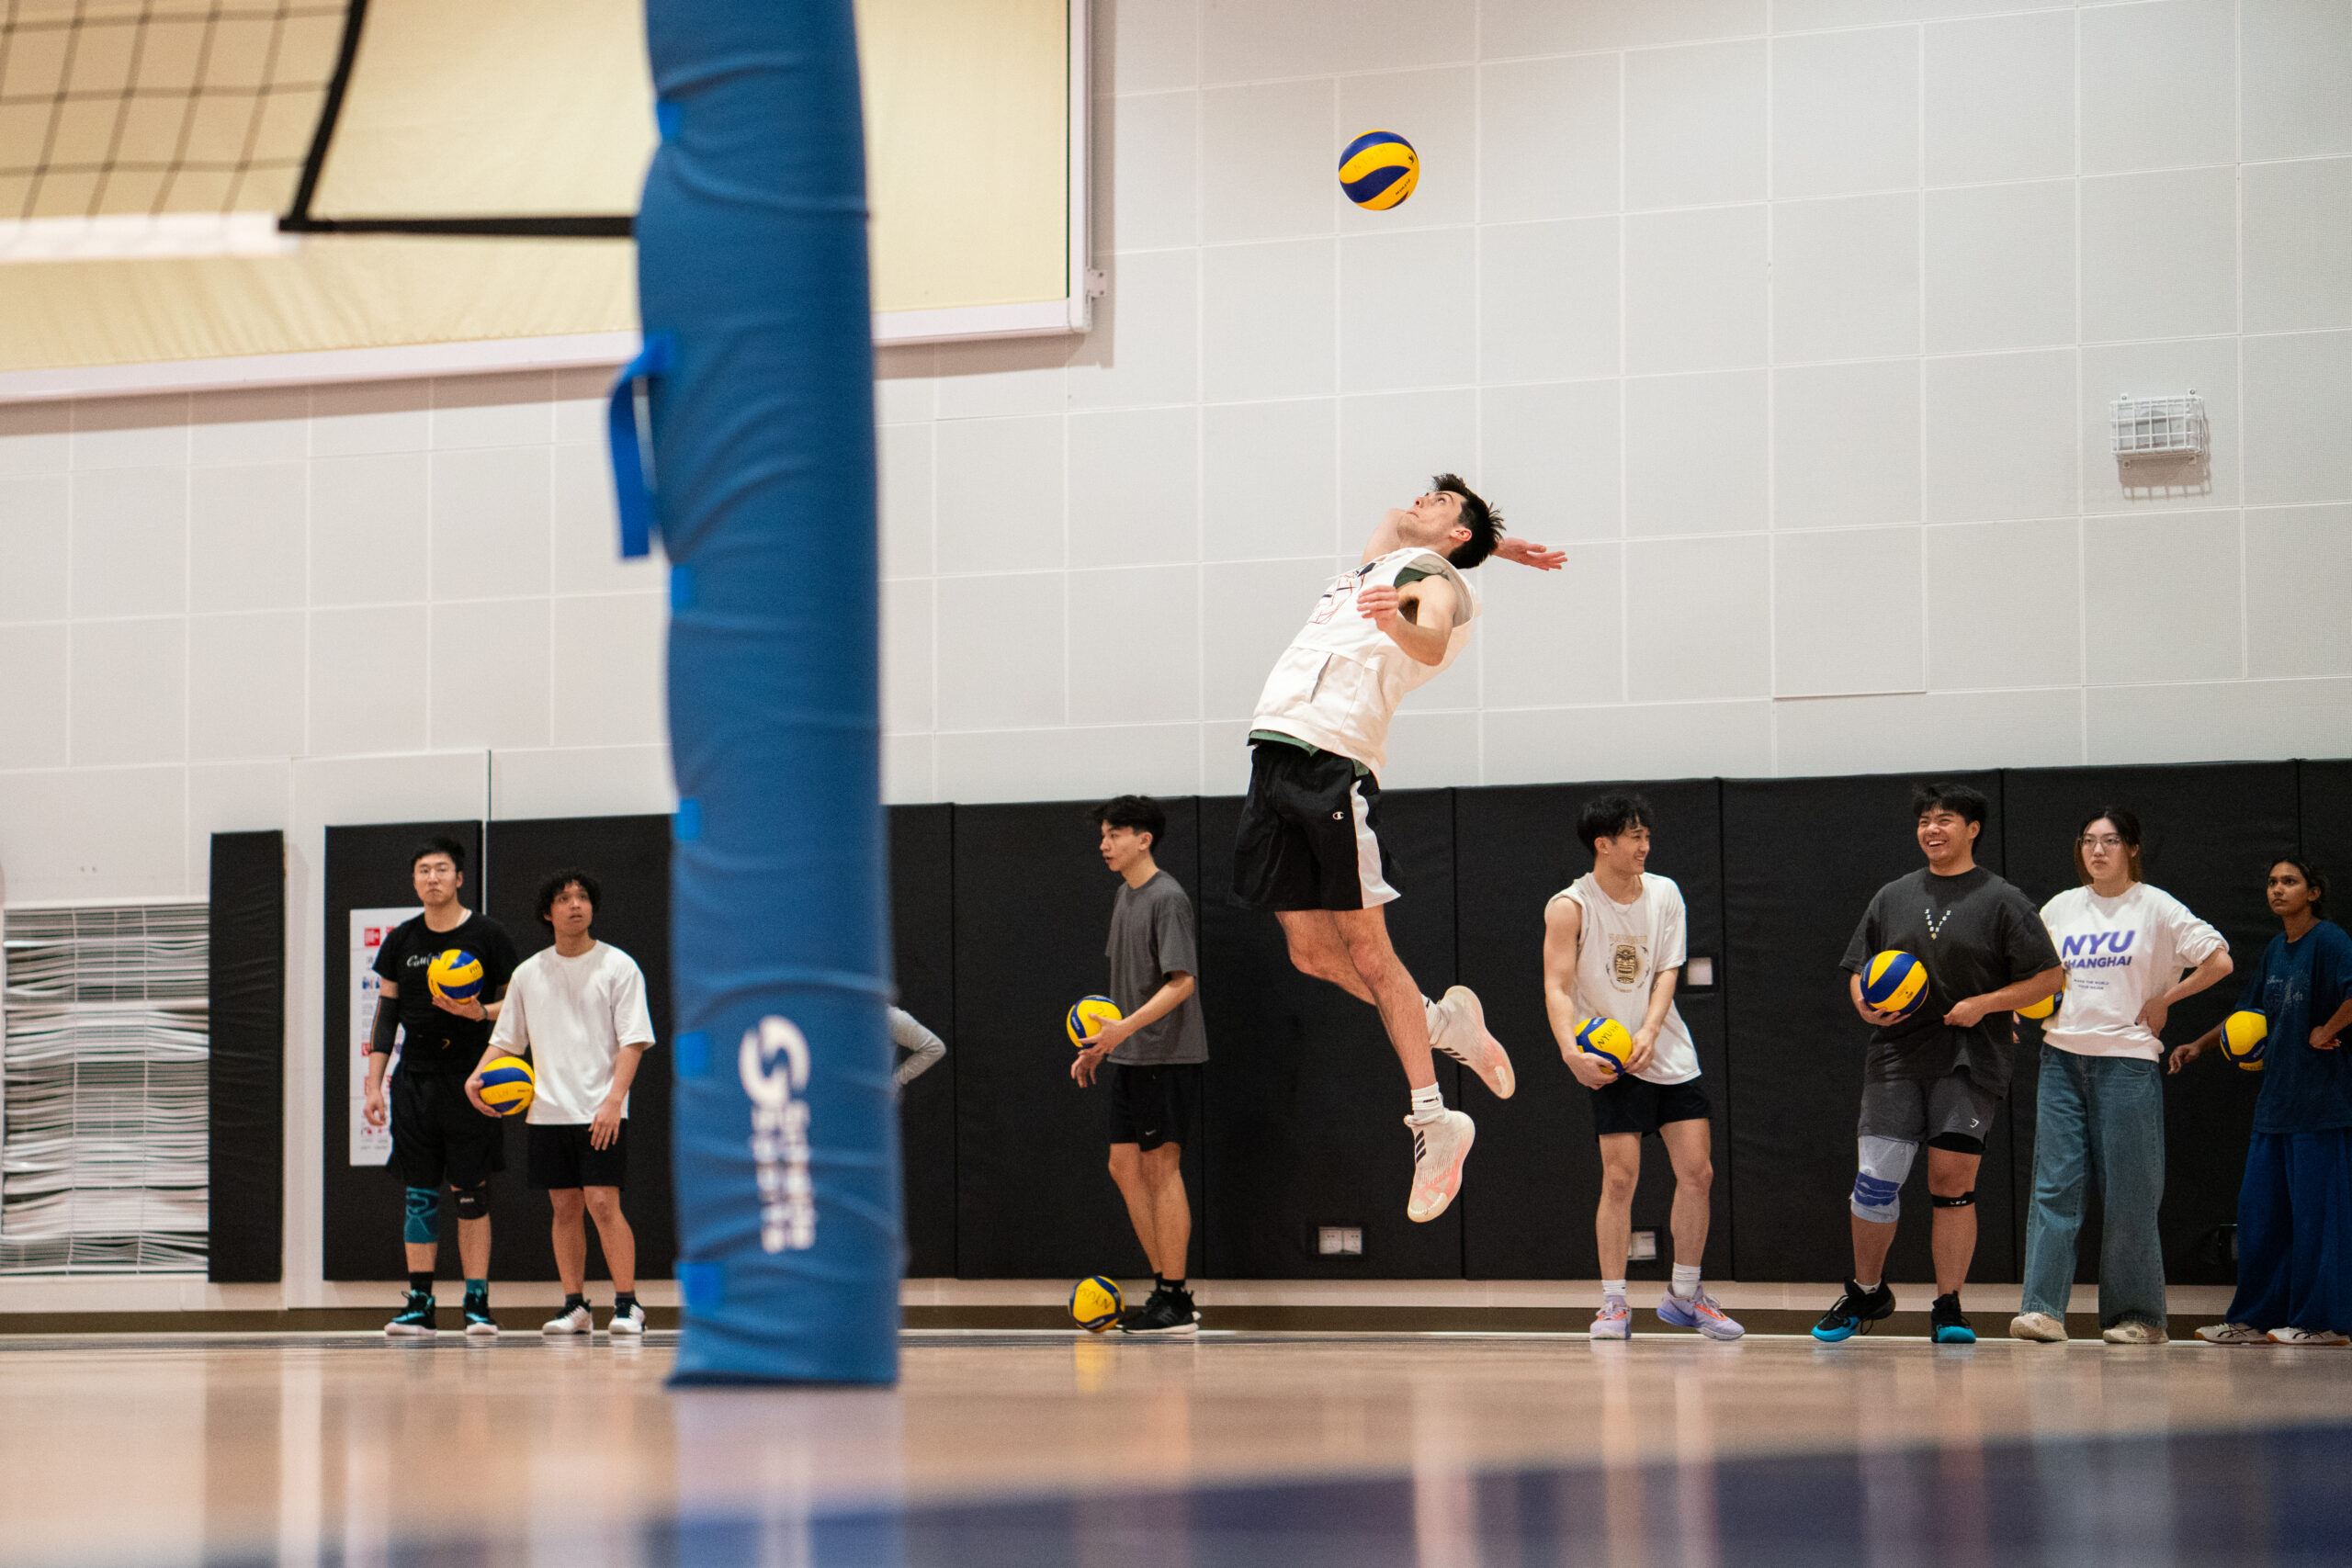
<svg viewBox="0 0 2352 1568"><path fill-rule="evenodd" d="M409 856L409 877L426 912L395 926L376 950L383 987L367 1048L365 1114L369 1126L390 1119L393 1168L407 1187L400 1239L409 1258L409 1300L383 1333L433 1333L433 1265L440 1258L440 1190L447 1180L456 1194L456 1251L466 1265L466 1333L496 1335L499 1321L489 1316L489 1175L506 1168L506 1126L466 1098L466 1074L489 1044L515 973L515 943L499 922L456 900L466 886L466 849L456 839L419 844ZM473 994L452 997L433 985L433 961L445 954L454 961L470 957L480 966ZM395 1037L400 1072L386 1095Z"/></svg>

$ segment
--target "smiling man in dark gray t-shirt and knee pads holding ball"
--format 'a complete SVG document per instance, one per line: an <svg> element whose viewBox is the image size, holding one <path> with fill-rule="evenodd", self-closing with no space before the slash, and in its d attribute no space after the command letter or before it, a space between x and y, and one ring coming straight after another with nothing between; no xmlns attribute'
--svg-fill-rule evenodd
<svg viewBox="0 0 2352 1568"><path fill-rule="evenodd" d="M1863 1051L1860 1173L1853 1178L1853 1279L1813 1338L1837 1342L1896 1309L1882 1279L1896 1239L1903 1178L1919 1145L1933 1204L1936 1305L1929 1338L1971 1345L1959 1286L1976 1255L1976 1166L1992 1112L2009 1093L2011 1011L2065 985L2042 912L1976 863L1985 797L1969 785L1919 785L1912 813L1926 870L1879 889L1846 945L1846 990L1872 1025ZM1910 1013L1863 1001L1879 952L1907 952L1926 969L1926 997ZM1870 1281L1867 1286L1863 1281Z"/></svg>

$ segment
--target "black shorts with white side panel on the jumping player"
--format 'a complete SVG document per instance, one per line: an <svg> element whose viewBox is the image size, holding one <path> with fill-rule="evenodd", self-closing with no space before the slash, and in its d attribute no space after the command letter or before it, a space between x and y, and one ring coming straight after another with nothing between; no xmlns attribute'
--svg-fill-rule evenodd
<svg viewBox="0 0 2352 1568"><path fill-rule="evenodd" d="M1397 896L1381 844L1381 780L1352 757L1284 741L1249 748L1232 835L1232 898L1251 910L1376 910Z"/></svg>

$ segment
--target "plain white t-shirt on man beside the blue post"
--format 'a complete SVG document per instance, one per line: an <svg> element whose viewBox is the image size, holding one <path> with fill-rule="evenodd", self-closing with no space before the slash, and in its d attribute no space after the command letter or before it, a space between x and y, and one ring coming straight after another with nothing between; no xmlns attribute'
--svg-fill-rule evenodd
<svg viewBox="0 0 2352 1568"><path fill-rule="evenodd" d="M644 973L637 961L597 943L576 959L543 947L515 966L489 1037L506 1051L532 1051L529 1121L579 1126L612 1093L612 1063L621 1046L654 1044L654 1016L644 1009ZM628 1103L621 1103L628 1114Z"/></svg>

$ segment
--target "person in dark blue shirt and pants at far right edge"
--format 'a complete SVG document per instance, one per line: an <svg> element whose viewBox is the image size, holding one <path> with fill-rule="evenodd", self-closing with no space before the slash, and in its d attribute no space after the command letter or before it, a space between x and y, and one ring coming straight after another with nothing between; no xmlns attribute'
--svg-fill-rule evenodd
<svg viewBox="0 0 2352 1568"><path fill-rule="evenodd" d="M2347 1345L2352 1328L2352 936L2321 919L2328 882L2298 856L2270 867L2284 931L2246 976L2237 1006L2270 1020L2237 1190L2237 1298L2211 1345ZM2173 1051L2180 1072L2220 1025Z"/></svg>

